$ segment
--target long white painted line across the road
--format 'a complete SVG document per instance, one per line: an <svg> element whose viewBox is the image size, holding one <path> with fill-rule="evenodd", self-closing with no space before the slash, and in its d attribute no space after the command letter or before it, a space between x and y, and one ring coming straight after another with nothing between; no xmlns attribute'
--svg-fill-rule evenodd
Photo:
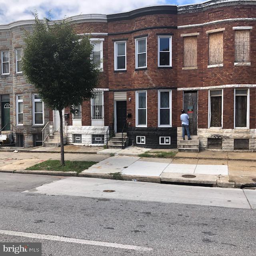
<svg viewBox="0 0 256 256"><path fill-rule="evenodd" d="M28 238L36 238L42 240L52 240L52 241L60 241L67 243L75 243L75 244L88 244L88 245L96 245L96 246L105 246L105 247L113 247L127 250L137 250L137 251L152 251L152 248L144 247L144 246L136 246L131 244L118 244L111 242L102 242L102 241L94 241L94 240L86 240L86 239L78 239L71 238L66 236L54 236L54 235L45 235L45 234L36 234L36 233L26 233L12 230L0 230L0 234L9 235L9 236L23 236Z"/></svg>

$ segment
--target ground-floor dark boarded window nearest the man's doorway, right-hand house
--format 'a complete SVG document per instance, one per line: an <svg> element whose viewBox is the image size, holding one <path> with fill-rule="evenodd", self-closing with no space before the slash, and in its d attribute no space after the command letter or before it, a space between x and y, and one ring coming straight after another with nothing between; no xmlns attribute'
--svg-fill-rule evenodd
<svg viewBox="0 0 256 256"><path fill-rule="evenodd" d="M210 90L209 95L209 127L222 127L222 90Z"/></svg>

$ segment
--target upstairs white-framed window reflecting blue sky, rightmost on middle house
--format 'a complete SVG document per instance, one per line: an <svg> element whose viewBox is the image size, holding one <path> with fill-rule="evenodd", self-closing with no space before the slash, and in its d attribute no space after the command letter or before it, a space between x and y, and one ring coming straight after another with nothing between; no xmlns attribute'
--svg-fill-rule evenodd
<svg viewBox="0 0 256 256"><path fill-rule="evenodd" d="M158 67L172 66L172 37L158 36Z"/></svg>

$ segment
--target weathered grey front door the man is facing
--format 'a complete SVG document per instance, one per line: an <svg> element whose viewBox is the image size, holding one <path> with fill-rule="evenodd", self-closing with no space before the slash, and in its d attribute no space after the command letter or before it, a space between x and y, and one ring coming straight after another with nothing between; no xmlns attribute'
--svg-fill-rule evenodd
<svg viewBox="0 0 256 256"><path fill-rule="evenodd" d="M189 116L190 135L197 135L197 91L184 92L183 109Z"/></svg>

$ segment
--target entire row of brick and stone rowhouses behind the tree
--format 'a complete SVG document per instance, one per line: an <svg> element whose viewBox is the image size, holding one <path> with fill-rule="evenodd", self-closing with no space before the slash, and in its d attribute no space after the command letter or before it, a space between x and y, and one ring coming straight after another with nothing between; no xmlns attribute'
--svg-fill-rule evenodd
<svg viewBox="0 0 256 256"><path fill-rule="evenodd" d="M22 36L33 22L0 26L0 143L30 147L59 137L58 113L22 76ZM93 61L103 61L96 96L75 114L63 110L67 143L103 145L113 129L127 131L130 145L176 148L184 109L201 148L256 149L256 1L151 6L71 22L78 34L90 31ZM109 145L121 146L118 138Z"/></svg>

